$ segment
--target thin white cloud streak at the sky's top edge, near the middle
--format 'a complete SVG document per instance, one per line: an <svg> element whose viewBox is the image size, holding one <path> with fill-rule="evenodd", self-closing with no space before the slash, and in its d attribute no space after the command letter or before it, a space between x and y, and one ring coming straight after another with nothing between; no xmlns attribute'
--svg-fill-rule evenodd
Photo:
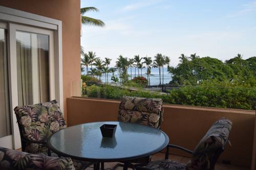
<svg viewBox="0 0 256 170"><path fill-rule="evenodd" d="M147 6L152 6L155 4L158 4L162 2L162 0L147 0L147 1L141 1L138 3L126 5L125 7L122 8L122 11L132 11L132 10L138 10L140 8L144 8Z"/></svg>

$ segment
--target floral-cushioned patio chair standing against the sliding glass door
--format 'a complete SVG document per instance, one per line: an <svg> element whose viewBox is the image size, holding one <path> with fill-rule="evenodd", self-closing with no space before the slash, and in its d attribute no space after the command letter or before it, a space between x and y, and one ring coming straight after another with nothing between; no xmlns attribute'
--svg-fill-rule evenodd
<svg viewBox="0 0 256 170"><path fill-rule="evenodd" d="M31 154L57 156L47 147L48 138L66 128L66 122L56 100L14 108L22 151ZM76 169L90 166L91 162L73 160Z"/></svg>

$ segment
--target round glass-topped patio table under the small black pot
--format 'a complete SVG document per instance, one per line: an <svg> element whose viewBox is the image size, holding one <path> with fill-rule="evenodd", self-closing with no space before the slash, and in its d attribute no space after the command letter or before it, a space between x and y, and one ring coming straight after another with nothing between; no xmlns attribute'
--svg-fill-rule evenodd
<svg viewBox="0 0 256 170"><path fill-rule="evenodd" d="M114 137L102 137L100 127L103 124L117 125ZM56 132L48 140L50 150L59 156L91 162L124 163L153 155L168 143L168 136L159 129L123 122L76 125Z"/></svg>

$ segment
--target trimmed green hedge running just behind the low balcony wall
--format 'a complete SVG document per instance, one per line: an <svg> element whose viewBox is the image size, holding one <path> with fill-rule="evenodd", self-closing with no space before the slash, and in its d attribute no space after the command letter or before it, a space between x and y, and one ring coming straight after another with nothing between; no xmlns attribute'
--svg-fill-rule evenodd
<svg viewBox="0 0 256 170"><path fill-rule="evenodd" d="M145 90L129 91L108 85L101 87L93 85L87 88L89 98L120 100L123 95L129 95L142 98L161 98L166 104L246 110L254 110L256 102L255 88L185 86L180 89L173 89L169 94Z"/></svg>

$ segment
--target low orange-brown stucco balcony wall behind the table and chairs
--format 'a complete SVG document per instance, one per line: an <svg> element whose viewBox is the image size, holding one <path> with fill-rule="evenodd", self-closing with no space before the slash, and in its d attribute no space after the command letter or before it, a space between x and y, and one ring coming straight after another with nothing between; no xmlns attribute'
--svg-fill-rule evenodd
<svg viewBox="0 0 256 170"><path fill-rule="evenodd" d="M68 125L115 121L119 103L111 100L68 98ZM233 123L229 136L232 147L226 145L219 161L226 160L233 165L249 167L252 157L254 116L254 111L164 105L164 122L161 129L168 134L171 143L193 150L212 123L221 117L227 117ZM188 156L175 149L170 152Z"/></svg>

